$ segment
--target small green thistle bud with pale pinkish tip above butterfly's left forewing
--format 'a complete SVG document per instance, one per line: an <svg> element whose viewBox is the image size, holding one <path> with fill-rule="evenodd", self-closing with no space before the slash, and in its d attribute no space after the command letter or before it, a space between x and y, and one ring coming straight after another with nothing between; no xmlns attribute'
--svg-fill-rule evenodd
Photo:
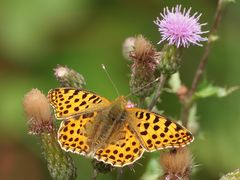
<svg viewBox="0 0 240 180"><path fill-rule="evenodd" d="M73 69L69 69L67 66L57 65L54 69L54 75L62 87L82 89L86 85L84 77Z"/></svg>

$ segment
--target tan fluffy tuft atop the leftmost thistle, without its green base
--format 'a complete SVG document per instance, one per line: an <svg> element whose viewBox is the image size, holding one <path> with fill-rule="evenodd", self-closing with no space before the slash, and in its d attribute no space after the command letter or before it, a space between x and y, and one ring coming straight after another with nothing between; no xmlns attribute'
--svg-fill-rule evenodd
<svg viewBox="0 0 240 180"><path fill-rule="evenodd" d="M29 132L39 134L53 129L51 110L47 98L38 89L29 91L23 100Z"/></svg>

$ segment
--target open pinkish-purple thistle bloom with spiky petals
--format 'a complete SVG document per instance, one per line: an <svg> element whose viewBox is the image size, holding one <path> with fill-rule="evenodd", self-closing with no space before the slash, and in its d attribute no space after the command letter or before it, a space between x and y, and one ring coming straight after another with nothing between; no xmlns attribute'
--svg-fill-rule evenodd
<svg viewBox="0 0 240 180"><path fill-rule="evenodd" d="M200 42L208 40L206 37L201 37L202 34L208 32L201 30L201 27L206 25L206 23L198 22L201 14L196 12L190 16L190 11L191 8L187 11L184 8L181 12L181 5L173 7L171 11L168 7L164 8L163 13L160 13L163 19L160 20L157 17L157 20L154 21L162 38L158 44L167 40L170 45L177 47L188 47L190 44L202 46Z"/></svg>

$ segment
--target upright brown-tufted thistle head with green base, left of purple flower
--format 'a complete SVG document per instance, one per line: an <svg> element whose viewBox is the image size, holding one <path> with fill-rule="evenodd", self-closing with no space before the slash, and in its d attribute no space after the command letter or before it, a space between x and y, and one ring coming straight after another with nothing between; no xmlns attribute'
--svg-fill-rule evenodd
<svg viewBox="0 0 240 180"><path fill-rule="evenodd" d="M158 55L153 45L143 36L139 35L136 38L134 50L130 53L133 60L130 88L136 96L146 97L153 92L154 88L150 82L155 79L154 72L158 64Z"/></svg>

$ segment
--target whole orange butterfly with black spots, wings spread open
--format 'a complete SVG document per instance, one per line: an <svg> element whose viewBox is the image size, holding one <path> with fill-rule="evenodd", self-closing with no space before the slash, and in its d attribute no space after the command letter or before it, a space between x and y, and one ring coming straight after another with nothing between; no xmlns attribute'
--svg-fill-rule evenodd
<svg viewBox="0 0 240 180"><path fill-rule="evenodd" d="M63 120L58 130L61 148L115 167L133 164L144 151L179 148L194 139L167 117L128 108L124 96L109 101L81 89L56 88L48 98L56 118Z"/></svg>

